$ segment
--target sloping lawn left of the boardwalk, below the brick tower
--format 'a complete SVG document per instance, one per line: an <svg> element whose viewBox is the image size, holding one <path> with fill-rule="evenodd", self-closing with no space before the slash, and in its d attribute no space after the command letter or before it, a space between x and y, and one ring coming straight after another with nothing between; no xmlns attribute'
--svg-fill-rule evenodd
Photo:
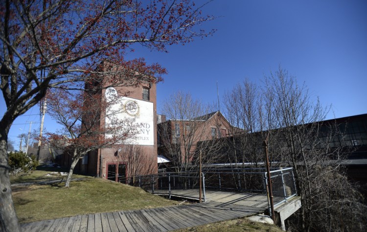
<svg viewBox="0 0 367 232"><path fill-rule="evenodd" d="M56 180L62 177L45 176L47 171L12 177L11 183ZM138 187L73 175L69 188L65 183L53 185L13 186L13 202L21 223L54 219L96 212L144 209L178 204L147 193ZM64 177L64 180L66 177Z"/></svg>

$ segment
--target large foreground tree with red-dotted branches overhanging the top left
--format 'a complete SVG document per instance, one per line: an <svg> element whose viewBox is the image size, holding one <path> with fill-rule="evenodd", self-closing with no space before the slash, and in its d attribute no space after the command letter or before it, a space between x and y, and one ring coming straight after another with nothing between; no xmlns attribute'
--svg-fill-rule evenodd
<svg viewBox="0 0 367 232"><path fill-rule="evenodd" d="M49 88L83 90L161 80L166 70L144 59L125 60L134 44L166 51L213 31L210 16L191 0L1 0L0 89L7 110L0 120L0 228L20 231L9 181L7 140L14 120ZM99 69L108 60L119 69ZM139 78L141 77L141 78Z"/></svg>

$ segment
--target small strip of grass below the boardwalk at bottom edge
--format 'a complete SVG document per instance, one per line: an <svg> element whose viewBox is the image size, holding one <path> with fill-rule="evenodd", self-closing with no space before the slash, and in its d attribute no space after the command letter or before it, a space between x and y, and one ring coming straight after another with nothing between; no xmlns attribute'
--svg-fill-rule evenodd
<svg viewBox="0 0 367 232"><path fill-rule="evenodd" d="M197 227L189 227L186 229L176 230L175 232L223 232L223 231L282 232L282 230L280 230L280 228L275 225L264 224L261 222L252 222L246 218L211 223Z"/></svg>

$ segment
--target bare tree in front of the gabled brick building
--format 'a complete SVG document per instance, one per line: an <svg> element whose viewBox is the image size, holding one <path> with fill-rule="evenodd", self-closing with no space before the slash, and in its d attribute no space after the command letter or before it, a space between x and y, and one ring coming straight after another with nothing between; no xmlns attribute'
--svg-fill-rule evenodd
<svg viewBox="0 0 367 232"><path fill-rule="evenodd" d="M213 154L219 149L218 142L199 141L225 136L220 132L224 125L221 125L223 121L216 118L218 112L210 113L209 107L192 99L191 94L178 92L163 103L163 114L169 120L158 127L162 145L160 150L172 161L176 172L195 167L199 161L194 157L200 150L206 162L213 162L212 159L217 158Z"/></svg>

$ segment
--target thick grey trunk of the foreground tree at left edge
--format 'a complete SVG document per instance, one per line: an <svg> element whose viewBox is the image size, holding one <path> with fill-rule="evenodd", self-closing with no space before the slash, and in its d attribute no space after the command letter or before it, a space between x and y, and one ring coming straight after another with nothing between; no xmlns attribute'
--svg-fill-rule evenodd
<svg viewBox="0 0 367 232"><path fill-rule="evenodd" d="M3 128L3 127L2 127ZM7 152L7 131L0 135L0 230L4 232L20 232L21 225L14 209L12 191L9 180L9 157Z"/></svg>

